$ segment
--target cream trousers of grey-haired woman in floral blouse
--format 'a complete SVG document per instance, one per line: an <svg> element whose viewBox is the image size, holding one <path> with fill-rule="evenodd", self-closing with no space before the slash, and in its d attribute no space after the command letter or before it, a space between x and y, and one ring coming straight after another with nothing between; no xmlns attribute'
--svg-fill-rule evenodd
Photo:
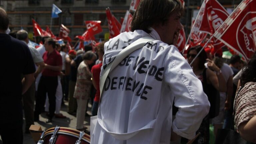
<svg viewBox="0 0 256 144"><path fill-rule="evenodd" d="M88 99L76 99L77 101L77 110L76 110L76 129L84 128L84 117L86 113L86 105Z"/></svg>

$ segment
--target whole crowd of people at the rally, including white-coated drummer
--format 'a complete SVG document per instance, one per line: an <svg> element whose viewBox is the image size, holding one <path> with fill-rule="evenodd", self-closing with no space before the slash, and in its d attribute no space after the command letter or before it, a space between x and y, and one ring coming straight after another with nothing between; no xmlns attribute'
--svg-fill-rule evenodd
<svg viewBox="0 0 256 144"><path fill-rule="evenodd" d="M68 113L76 115L76 129L86 130L89 100L91 114L97 116L92 144L176 144L191 139L208 144L210 124L216 136L218 129L231 129L233 122L245 140L256 143L256 53L247 64L239 55L227 64L221 54L201 52L199 45L191 47L184 59L174 46L182 14L179 0L141 0L132 32L103 41L95 50L86 45L75 51L50 37L42 37L38 48L28 46L25 30L6 34L9 20L0 8L4 144L23 142L23 109L29 133L42 112L47 114L46 123L66 118L60 113L63 101L68 101ZM143 37L153 40L127 54L100 83L101 72Z"/></svg>

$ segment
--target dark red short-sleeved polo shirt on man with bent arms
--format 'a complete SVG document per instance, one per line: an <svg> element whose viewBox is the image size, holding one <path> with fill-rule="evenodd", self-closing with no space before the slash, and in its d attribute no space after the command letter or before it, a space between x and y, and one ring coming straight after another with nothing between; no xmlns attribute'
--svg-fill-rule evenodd
<svg viewBox="0 0 256 144"><path fill-rule="evenodd" d="M52 53L48 54L46 51L43 54L44 63L51 65L51 66L61 66L62 65L62 58L59 52L54 50ZM58 76L60 74L59 71L54 71L51 69L44 69L42 72L42 76Z"/></svg>

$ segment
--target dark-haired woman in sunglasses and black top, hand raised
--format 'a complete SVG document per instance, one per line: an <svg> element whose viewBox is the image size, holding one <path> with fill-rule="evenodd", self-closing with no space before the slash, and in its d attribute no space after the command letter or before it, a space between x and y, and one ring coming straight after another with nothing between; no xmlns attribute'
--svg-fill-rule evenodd
<svg viewBox="0 0 256 144"><path fill-rule="evenodd" d="M197 76L197 78L199 80L201 80L202 84L203 84L203 90L206 93L206 95L208 96L208 99L211 103L210 100L210 93L213 93L212 89L216 89L218 94L219 92L226 92L227 87L225 85L225 80L224 77L220 71L220 68L217 67L213 61L207 59L207 55L206 52L203 50L198 57L197 54L199 53L199 51L202 49L202 46L198 45L195 47L191 47L188 50L188 54L187 54L187 61L190 64L190 66L193 69L194 74ZM195 60L194 60L195 59ZM194 62L191 64L191 62L194 60ZM208 68L205 68L205 62L208 62ZM215 74L215 72L216 74ZM211 87L211 88L210 88ZM212 88L213 87L213 88ZM210 90L211 89L211 90ZM218 92L219 91L219 92ZM217 97L217 95L216 95ZM214 105L211 103L211 107L210 107L210 112L209 114L203 119L197 133L201 133L199 135L199 137L195 140L194 143L196 144L206 144L209 143L209 119L211 118L210 115L212 115L211 113L211 109L214 107Z"/></svg>

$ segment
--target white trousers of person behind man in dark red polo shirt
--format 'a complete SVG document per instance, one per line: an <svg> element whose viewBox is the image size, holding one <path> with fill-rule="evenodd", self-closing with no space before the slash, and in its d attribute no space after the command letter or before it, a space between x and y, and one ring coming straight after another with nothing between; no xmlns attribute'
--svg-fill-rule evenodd
<svg viewBox="0 0 256 144"><path fill-rule="evenodd" d="M55 114L59 114L60 108L61 108L62 97L63 97L60 76L58 76L58 86L57 86L55 97L56 97ZM48 99L47 94L46 94L46 101L45 101L45 111L49 111L49 99Z"/></svg>

